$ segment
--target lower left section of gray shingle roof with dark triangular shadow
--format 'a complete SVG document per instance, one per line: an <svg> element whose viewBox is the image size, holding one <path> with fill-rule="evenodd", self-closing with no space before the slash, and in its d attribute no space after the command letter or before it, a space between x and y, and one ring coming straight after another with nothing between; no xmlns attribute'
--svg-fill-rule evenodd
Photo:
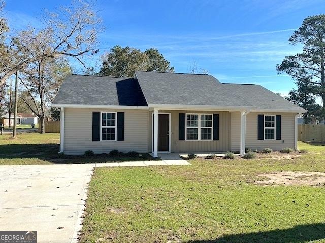
<svg viewBox="0 0 325 243"><path fill-rule="evenodd" d="M53 104L147 106L133 78L69 75Z"/></svg>

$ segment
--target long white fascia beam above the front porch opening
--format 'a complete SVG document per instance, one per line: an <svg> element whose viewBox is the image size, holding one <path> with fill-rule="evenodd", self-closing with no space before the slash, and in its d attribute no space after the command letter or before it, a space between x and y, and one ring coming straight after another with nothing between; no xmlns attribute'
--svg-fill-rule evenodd
<svg viewBox="0 0 325 243"><path fill-rule="evenodd" d="M246 111L256 107L243 106L211 106L211 105L177 105L177 104L148 104L149 108L160 110L205 110L205 111Z"/></svg>

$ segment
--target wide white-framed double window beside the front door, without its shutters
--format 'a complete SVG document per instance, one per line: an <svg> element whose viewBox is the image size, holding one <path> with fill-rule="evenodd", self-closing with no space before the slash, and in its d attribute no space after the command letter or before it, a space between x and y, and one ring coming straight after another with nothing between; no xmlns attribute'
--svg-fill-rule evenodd
<svg viewBox="0 0 325 243"><path fill-rule="evenodd" d="M186 140L212 140L212 114L186 114Z"/></svg>

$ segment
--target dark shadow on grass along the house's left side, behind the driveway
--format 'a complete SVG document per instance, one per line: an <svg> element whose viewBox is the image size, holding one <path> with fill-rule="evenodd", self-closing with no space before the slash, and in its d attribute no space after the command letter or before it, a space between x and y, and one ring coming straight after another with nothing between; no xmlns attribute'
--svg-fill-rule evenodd
<svg viewBox="0 0 325 243"><path fill-rule="evenodd" d="M109 156L108 154L84 155L60 155L59 144L5 144L0 145L0 159L41 159L54 164L76 164L76 163L110 163L122 161L144 161L157 160L147 153L123 154ZM159 160L159 159L158 159Z"/></svg>

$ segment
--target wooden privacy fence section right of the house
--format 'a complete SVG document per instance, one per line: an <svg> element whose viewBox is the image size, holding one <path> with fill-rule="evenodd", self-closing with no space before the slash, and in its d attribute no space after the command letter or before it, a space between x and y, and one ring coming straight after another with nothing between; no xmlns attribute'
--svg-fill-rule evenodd
<svg viewBox="0 0 325 243"><path fill-rule="evenodd" d="M298 141L324 143L324 124L298 124Z"/></svg>

